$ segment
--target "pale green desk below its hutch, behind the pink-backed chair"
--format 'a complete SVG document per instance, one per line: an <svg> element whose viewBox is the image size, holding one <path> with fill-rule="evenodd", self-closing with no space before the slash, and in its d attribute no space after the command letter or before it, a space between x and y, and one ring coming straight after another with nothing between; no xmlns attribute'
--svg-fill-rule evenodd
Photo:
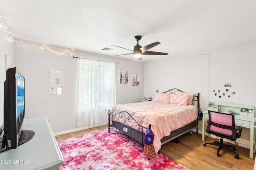
<svg viewBox="0 0 256 170"><path fill-rule="evenodd" d="M205 133L205 119L209 119L208 110L203 111L202 118L202 141L204 141L204 133ZM256 117L246 117L241 115L235 115L235 123L237 126L242 126L250 129L250 158L253 156L253 147L255 144L255 124ZM210 134L208 134L210 137Z"/></svg>

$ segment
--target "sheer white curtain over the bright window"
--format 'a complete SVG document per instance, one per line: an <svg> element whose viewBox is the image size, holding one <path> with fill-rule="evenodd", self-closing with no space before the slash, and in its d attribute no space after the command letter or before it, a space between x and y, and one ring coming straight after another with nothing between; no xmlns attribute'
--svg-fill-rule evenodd
<svg viewBox="0 0 256 170"><path fill-rule="evenodd" d="M80 59L78 127L108 121L116 105L115 63Z"/></svg>

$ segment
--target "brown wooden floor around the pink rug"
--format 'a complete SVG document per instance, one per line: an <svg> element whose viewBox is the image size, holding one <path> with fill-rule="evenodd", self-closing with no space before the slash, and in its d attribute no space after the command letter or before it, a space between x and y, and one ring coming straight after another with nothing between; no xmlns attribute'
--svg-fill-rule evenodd
<svg viewBox="0 0 256 170"><path fill-rule="evenodd" d="M94 127L74 133L56 136L56 141L62 141L70 137L80 136L96 131L107 129L108 125ZM253 170L254 159L249 158L249 149L236 146L236 152L239 154L239 159L234 157L234 154L221 150L221 156L216 155L217 147L212 145L203 146L205 142L216 140L205 136L205 141L202 141L202 134L192 132L192 136L188 133L178 137L180 143L175 144L168 142L162 145L160 153L169 157L170 159L186 166L191 170ZM225 142L224 142L225 143ZM229 144L229 143L228 143ZM232 144L231 144L232 145Z"/></svg>

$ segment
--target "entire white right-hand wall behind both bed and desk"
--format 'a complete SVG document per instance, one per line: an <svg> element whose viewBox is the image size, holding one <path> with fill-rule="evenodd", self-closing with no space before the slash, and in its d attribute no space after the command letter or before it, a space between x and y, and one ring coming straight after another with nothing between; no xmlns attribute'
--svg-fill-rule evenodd
<svg viewBox="0 0 256 170"><path fill-rule="evenodd" d="M156 90L164 92L178 88L184 92L200 93L202 110L208 108L210 101L250 104L255 107L255 63L256 41L146 62L144 96L154 98ZM229 93L236 93L230 94L230 98L222 95L226 90L225 83L232 85ZM222 98L215 96L213 90L221 90ZM199 121L199 130L202 130L202 121ZM249 145L249 134L249 129L243 128L242 137L237 141Z"/></svg>

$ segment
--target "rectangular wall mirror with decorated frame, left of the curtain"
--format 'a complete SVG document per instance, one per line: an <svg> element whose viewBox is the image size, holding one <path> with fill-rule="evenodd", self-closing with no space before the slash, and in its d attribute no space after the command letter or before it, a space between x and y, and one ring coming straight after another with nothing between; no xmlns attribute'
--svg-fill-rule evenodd
<svg viewBox="0 0 256 170"><path fill-rule="evenodd" d="M63 94L63 70L59 70L59 69L49 70L49 94L51 95Z"/></svg>

